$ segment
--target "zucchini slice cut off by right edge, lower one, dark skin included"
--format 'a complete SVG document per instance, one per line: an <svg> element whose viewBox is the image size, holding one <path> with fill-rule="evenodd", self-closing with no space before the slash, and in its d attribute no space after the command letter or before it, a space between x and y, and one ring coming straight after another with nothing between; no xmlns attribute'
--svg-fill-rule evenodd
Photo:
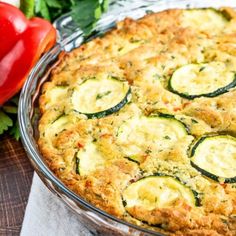
<svg viewBox="0 0 236 236"><path fill-rule="evenodd" d="M230 135L202 137L192 148L191 164L213 180L235 183L236 138Z"/></svg>

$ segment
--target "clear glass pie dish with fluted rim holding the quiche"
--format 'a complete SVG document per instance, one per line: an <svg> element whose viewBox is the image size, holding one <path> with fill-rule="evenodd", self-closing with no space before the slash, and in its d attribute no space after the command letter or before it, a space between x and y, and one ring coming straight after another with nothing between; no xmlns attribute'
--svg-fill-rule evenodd
<svg viewBox="0 0 236 236"><path fill-rule="evenodd" d="M19 102L19 123L21 137L29 159L45 185L55 193L78 215L89 230L95 235L162 235L137 225L122 221L85 201L68 189L47 167L44 158L37 146L37 122L39 118L38 96L41 85L47 80L50 71L56 64L62 51L70 51L79 47L83 42L103 34L115 22L132 17L138 19L146 13L158 12L170 8L204 8L204 7L235 7L235 1L205 1L205 0L160 0L160 1L116 1L112 3L111 10L98 22L91 36L85 37L76 27L69 15L60 17L55 22L58 30L58 43L45 54L32 70L25 83Z"/></svg>

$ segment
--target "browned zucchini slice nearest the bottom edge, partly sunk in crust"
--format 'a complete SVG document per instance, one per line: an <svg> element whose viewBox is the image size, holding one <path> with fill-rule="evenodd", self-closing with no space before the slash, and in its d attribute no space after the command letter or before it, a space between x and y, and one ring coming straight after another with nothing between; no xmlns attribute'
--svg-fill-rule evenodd
<svg viewBox="0 0 236 236"><path fill-rule="evenodd" d="M155 208L171 208L181 199L190 206L196 206L195 193L171 176L148 176L130 184L123 191L126 210L140 206L151 211Z"/></svg>

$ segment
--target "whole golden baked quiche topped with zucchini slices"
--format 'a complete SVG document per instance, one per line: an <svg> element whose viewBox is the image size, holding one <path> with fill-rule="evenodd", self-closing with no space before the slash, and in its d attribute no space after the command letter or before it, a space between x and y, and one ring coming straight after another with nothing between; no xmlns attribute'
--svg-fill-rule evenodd
<svg viewBox="0 0 236 236"><path fill-rule="evenodd" d="M59 57L39 149L66 186L164 235L236 235L236 11L171 9Z"/></svg>

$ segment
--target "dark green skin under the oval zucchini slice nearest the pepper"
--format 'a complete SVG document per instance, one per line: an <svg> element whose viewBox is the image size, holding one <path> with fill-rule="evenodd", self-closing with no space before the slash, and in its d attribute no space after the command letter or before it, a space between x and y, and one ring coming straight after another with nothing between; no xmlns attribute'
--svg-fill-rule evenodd
<svg viewBox="0 0 236 236"><path fill-rule="evenodd" d="M123 100L119 104L117 104L116 106L114 106L110 109L107 109L105 111L100 111L100 112L96 112L96 113L82 113L77 110L74 110L74 111L79 114L86 115L88 119L100 119L105 116L111 115L112 113L115 113L115 112L119 111L122 107L124 107L130 101L130 99L129 99L130 94L131 94L131 88L129 88L125 97L123 98Z"/></svg>

